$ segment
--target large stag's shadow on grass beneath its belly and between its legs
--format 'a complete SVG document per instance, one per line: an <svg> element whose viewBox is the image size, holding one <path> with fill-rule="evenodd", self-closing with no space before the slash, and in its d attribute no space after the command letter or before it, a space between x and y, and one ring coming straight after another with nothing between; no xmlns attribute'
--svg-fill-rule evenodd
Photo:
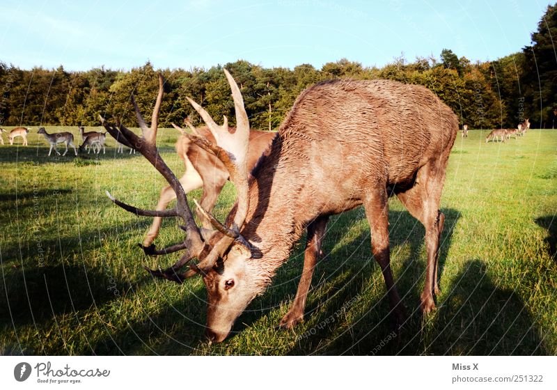
<svg viewBox="0 0 557 390"><path fill-rule="evenodd" d="M443 212L446 219L439 250L439 279L441 279L441 283L443 266L453 237L453 228L460 217L457 210L448 209L443 210ZM398 338L393 339L395 342L384 345L386 338L389 338L389 340L393 338L391 333L393 328L389 318L389 302L384 287L379 295L377 292L366 291L371 290L370 287L373 282L381 283L384 286L384 279L379 267L370 253L370 233L366 229L360 237L347 245L350 248L357 244L361 248L358 249L359 253L354 258L355 264L351 264L348 271L352 274L350 283L345 283L342 286L345 292L338 296L338 302L329 305L330 309L327 311L320 311L319 306L315 308L315 315L318 318L311 321L312 324L317 324L317 327L320 327L322 322L327 322L327 318L329 320L334 318L334 325L323 327L324 329L315 329L315 326L310 327L310 334L306 331L290 353L370 354L379 353L380 350L381 354L397 354L402 352L402 349L408 349L407 354L419 353L419 345L411 343L406 346L405 338L408 335L416 334L421 326L421 311L418 308L425 278L425 263L418 261L418 259L421 258L421 251L425 251L423 249L425 229L419 221L411 217L406 211L390 211L389 221L391 255L401 246L409 244L409 255L403 260L402 272L395 272L394 275L402 302L407 307L407 313L409 314L402 333L398 334ZM358 257L367 257L369 260L357 260ZM396 269L395 260L391 260L391 263ZM375 275L375 278L370 277L370 275ZM324 277L324 279L328 278L329 276ZM356 297L356 302L354 302L354 297ZM347 316L350 320L344 323L337 321L335 316L338 309L345 311L350 309L352 313L348 313ZM310 312L311 308L308 307L308 313ZM380 347L379 350L377 350L378 347ZM410 350L414 351L410 352Z"/></svg>

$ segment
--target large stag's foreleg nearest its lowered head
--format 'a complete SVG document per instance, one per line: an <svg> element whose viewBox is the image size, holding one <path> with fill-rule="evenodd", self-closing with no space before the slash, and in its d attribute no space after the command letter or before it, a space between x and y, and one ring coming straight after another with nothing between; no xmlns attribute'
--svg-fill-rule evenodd
<svg viewBox="0 0 557 390"><path fill-rule="evenodd" d="M283 329L295 327L299 322L304 320L304 309L306 308L306 298L311 286L311 278L317 260L321 252L323 237L327 229L328 216L317 217L308 226L308 237L306 241L306 251L304 253L304 270L301 272L301 279L298 283L296 297L292 303L292 307L281 320L280 326Z"/></svg>

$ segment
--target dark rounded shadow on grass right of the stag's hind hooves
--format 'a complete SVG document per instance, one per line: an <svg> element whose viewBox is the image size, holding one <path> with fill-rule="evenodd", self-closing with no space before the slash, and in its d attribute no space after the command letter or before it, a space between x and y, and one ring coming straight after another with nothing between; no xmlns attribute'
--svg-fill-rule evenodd
<svg viewBox="0 0 557 390"><path fill-rule="evenodd" d="M547 354L535 320L512 290L496 286L485 262L461 267L432 322L421 350L428 354Z"/></svg>

